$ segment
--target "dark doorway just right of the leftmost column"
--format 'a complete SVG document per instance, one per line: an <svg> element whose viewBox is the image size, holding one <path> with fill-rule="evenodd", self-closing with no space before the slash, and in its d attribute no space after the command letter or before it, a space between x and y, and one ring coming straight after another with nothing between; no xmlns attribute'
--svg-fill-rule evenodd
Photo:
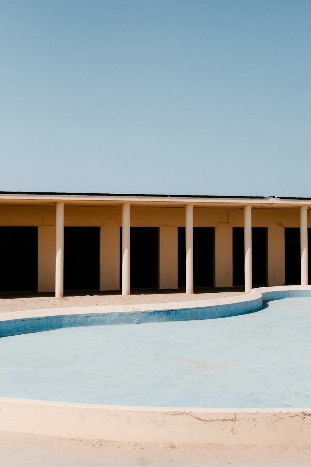
<svg viewBox="0 0 311 467"><path fill-rule="evenodd" d="M99 289L99 227L64 227L64 289Z"/></svg>

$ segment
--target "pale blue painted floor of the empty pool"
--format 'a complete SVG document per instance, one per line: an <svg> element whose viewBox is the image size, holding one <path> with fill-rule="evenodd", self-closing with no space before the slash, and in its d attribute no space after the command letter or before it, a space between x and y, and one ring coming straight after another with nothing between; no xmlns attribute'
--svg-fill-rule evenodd
<svg viewBox="0 0 311 467"><path fill-rule="evenodd" d="M166 407L310 407L311 298L232 318L0 339L0 396Z"/></svg>

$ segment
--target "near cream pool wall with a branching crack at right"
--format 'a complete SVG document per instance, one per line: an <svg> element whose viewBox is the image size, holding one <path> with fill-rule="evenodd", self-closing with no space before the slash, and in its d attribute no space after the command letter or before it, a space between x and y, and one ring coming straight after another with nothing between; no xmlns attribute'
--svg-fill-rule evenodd
<svg viewBox="0 0 311 467"><path fill-rule="evenodd" d="M307 445L311 409L204 409L0 397L0 430L117 442Z"/></svg>

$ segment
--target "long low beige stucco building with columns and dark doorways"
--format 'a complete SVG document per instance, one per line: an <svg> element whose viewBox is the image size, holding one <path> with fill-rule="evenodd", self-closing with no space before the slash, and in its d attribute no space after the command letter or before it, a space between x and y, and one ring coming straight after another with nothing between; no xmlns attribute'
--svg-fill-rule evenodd
<svg viewBox="0 0 311 467"><path fill-rule="evenodd" d="M62 296L63 288L127 294L130 285L187 292L244 281L246 290L305 285L309 205L305 198L2 192L0 290Z"/></svg>

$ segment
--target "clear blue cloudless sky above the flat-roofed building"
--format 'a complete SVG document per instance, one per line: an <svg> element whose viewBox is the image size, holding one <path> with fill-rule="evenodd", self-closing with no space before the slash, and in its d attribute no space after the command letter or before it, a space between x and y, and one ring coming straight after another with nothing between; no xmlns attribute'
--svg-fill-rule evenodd
<svg viewBox="0 0 311 467"><path fill-rule="evenodd" d="M2 0L0 191L311 197L310 0Z"/></svg>

